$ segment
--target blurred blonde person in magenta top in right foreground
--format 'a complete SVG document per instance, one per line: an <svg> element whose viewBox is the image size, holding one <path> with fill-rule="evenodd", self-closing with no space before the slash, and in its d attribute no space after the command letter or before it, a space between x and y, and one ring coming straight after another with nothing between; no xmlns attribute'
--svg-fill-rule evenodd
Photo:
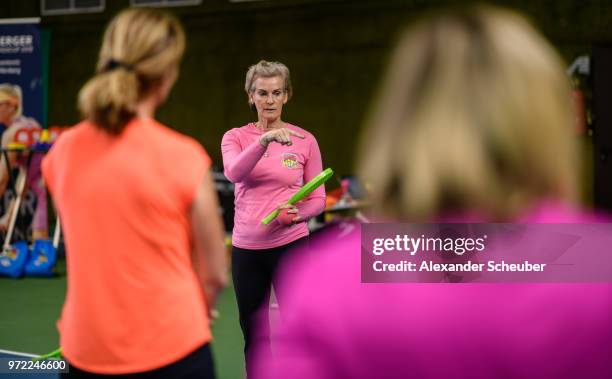
<svg viewBox="0 0 612 379"><path fill-rule="evenodd" d="M599 221L572 205L572 110L561 59L520 15L422 20L402 34L362 138L376 215ZM291 297L273 356L257 355L261 377L612 378L609 282L362 283L360 228L313 238L313 255L281 268Z"/></svg>

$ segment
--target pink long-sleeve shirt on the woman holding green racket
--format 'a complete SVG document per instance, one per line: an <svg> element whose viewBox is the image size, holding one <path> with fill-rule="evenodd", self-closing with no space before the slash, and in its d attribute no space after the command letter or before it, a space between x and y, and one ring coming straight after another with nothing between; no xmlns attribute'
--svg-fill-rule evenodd
<svg viewBox="0 0 612 379"><path fill-rule="evenodd" d="M308 235L306 222L291 226L261 220L279 204L287 202L301 186L323 169L321 152L314 136L295 125L287 128L305 136L292 137L292 145L259 143L263 132L255 124L231 129L221 141L225 176L235 184L232 244L242 249L261 250L282 246ZM325 188L320 186L296 204L304 220L325 208Z"/></svg>

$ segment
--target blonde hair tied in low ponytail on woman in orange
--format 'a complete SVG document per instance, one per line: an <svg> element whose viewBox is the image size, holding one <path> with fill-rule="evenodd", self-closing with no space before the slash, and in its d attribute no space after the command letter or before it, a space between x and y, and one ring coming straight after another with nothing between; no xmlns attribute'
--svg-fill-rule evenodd
<svg viewBox="0 0 612 379"><path fill-rule="evenodd" d="M184 51L185 32L174 16L149 8L122 11L106 28L96 75L79 93L81 113L119 134L138 101L178 69Z"/></svg>

